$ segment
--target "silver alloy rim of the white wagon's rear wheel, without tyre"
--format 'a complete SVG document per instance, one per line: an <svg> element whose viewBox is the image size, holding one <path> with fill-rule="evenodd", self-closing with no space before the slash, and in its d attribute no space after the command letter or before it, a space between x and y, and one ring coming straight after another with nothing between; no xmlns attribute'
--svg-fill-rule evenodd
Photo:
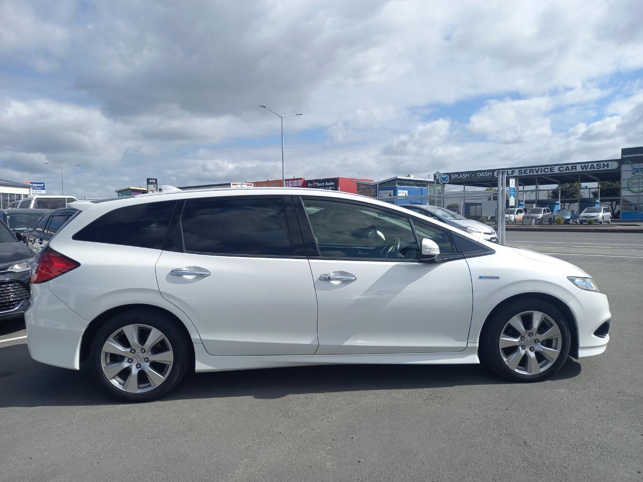
<svg viewBox="0 0 643 482"><path fill-rule="evenodd" d="M149 325L126 325L107 338L100 352L103 375L127 393L145 393L167 379L174 353L167 337Z"/></svg>

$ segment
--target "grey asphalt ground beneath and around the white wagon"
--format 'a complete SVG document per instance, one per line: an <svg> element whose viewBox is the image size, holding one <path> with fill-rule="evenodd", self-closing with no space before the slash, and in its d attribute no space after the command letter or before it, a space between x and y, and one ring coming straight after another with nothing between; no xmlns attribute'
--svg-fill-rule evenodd
<svg viewBox="0 0 643 482"><path fill-rule="evenodd" d="M481 366L203 373L127 405L32 361L23 322L4 323L0 481L643 480L643 235L507 244L594 276L613 314L606 353L535 384Z"/></svg>

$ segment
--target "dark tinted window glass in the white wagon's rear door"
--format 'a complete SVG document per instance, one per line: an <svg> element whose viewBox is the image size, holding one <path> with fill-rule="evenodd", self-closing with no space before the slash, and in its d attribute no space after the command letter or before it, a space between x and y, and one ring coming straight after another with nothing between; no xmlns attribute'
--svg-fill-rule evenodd
<svg viewBox="0 0 643 482"><path fill-rule="evenodd" d="M293 254L281 198L189 200L181 224L192 253Z"/></svg>

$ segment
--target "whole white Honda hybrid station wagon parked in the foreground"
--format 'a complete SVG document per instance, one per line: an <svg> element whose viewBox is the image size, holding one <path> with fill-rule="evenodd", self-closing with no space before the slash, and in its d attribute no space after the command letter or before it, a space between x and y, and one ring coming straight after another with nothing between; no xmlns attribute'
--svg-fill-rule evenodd
<svg viewBox="0 0 643 482"><path fill-rule="evenodd" d="M604 352L607 298L583 270L392 204L302 188L71 204L32 269L33 359L122 400L186 370L484 362L550 377ZM84 364L85 365L85 364Z"/></svg>

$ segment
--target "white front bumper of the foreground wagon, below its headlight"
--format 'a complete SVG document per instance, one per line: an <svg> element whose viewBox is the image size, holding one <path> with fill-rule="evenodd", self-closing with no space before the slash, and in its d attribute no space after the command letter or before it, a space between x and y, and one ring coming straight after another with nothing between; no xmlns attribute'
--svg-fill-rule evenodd
<svg viewBox="0 0 643 482"><path fill-rule="evenodd" d="M578 328L578 357L600 355L606 350L610 341L610 335L603 335L599 330L606 321L611 320L607 296L602 293L581 290L575 298L572 298L569 306L574 312ZM597 330L602 336L596 334Z"/></svg>

